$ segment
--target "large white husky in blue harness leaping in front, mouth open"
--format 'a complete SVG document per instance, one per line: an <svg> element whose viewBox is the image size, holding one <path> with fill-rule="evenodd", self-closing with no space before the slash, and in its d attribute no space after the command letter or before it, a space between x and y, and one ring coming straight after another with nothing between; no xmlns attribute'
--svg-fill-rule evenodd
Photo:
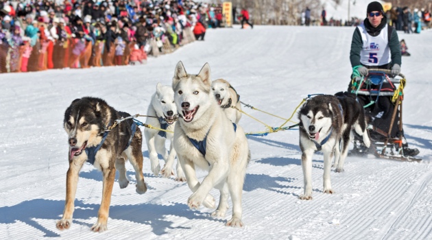
<svg viewBox="0 0 432 240"><path fill-rule="evenodd" d="M228 196L232 200L232 218L227 226L243 226L241 194L246 166L250 160L248 141L243 129L232 123L217 104L211 91L211 71L204 64L197 75L187 74L178 62L173 77L174 101L180 118L174 129L174 148L193 194L188 206L201 204L215 208L208 192L215 187L221 195L213 217L224 217ZM208 171L198 182L195 167Z"/></svg>

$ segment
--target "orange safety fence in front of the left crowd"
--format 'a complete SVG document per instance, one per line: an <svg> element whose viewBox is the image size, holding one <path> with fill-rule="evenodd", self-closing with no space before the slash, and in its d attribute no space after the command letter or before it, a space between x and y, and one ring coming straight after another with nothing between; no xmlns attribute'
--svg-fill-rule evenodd
<svg viewBox="0 0 432 240"><path fill-rule="evenodd" d="M24 45L14 48L3 44L0 45L0 73L145 64L147 53L157 57L177 49L178 46L170 44L168 38L162 40L163 47L156 47L156 39L149 38L148 52L145 51L144 46L138 47L138 44L132 41L125 44L123 54L119 56L115 56L115 43L110 43L110 51L108 51L104 40L97 40L95 43L78 38L67 38L57 42L47 40L44 43L38 40L33 47L29 42L25 42ZM194 40L191 29L189 27L183 29L180 45Z"/></svg>

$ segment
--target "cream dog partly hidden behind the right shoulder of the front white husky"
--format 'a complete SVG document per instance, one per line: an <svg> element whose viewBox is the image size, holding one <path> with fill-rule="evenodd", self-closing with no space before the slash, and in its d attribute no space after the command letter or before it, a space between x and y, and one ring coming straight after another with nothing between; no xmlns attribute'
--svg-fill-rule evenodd
<svg viewBox="0 0 432 240"><path fill-rule="evenodd" d="M211 89L213 90L217 104L224 110L226 117L233 123L238 124L241 118L241 112L239 111L241 110L241 104L240 95L237 94L237 91L235 91L228 81L223 79L213 81ZM235 106L239 110L231 108L231 106Z"/></svg>

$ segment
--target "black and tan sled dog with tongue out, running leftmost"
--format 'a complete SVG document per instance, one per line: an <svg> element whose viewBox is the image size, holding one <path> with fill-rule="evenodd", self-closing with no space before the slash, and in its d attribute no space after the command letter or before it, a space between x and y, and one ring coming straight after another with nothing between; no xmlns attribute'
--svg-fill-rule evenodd
<svg viewBox="0 0 432 240"><path fill-rule="evenodd" d="M91 228L95 232L107 229L116 169L119 171L120 188L123 189L129 184L126 160L130 160L135 169L136 192L143 194L147 191L143 176L141 130L132 119L127 119L106 131L115 124L116 119L129 116L126 112L117 112L108 106L106 101L95 97L75 99L64 112L64 130L69 135L69 169L66 177L66 203L63 217L56 224L58 229L67 229L72 224L78 173L86 161L101 170L104 179L97 222Z"/></svg>

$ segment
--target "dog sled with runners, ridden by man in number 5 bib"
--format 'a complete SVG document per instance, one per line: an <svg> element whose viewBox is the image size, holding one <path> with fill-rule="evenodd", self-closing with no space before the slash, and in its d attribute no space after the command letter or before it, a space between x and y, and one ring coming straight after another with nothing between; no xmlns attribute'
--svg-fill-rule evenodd
<svg viewBox="0 0 432 240"><path fill-rule="evenodd" d="M354 148L350 155L374 154L378 158L420 161L415 156L418 149L411 149L403 132L403 98L407 80L403 74L390 76L387 69L369 69L366 77L354 77L351 93L365 108L368 118L370 147L365 147L361 136L355 134Z"/></svg>

